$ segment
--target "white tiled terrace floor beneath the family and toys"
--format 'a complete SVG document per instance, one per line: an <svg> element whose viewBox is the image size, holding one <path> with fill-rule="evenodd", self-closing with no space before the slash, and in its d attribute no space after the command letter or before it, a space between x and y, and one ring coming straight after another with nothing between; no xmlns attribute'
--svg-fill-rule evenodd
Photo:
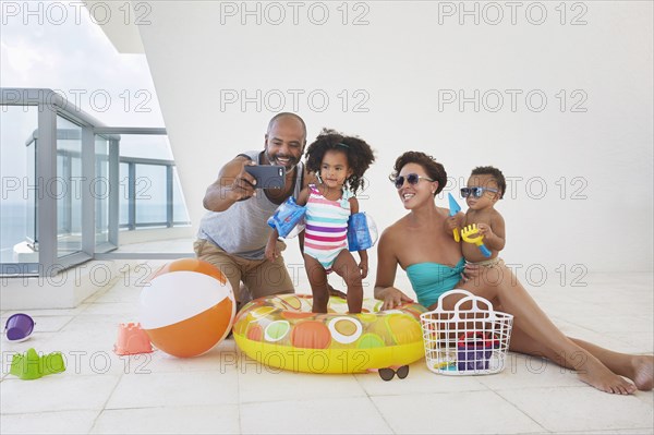
<svg viewBox="0 0 654 435"><path fill-rule="evenodd" d="M589 275L584 288L531 291L565 333L652 353L653 275L623 278ZM388 383L375 374L279 373L245 360L232 339L193 359L117 357L117 325L136 319L138 293L118 280L77 309L28 311L37 322L29 340L0 345L2 434L654 433L652 392L603 394L518 354L497 375L439 376L420 361L408 378ZM11 314L0 313L2 325ZM29 347L62 351L66 371L29 382L9 375L14 352Z"/></svg>

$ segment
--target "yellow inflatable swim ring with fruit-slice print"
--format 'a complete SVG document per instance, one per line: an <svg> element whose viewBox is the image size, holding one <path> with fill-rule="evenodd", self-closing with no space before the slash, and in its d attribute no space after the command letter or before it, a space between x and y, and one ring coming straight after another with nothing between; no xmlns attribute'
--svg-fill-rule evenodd
<svg viewBox="0 0 654 435"><path fill-rule="evenodd" d="M342 298L330 298L327 314L311 312L312 298L259 298L237 315L239 348L262 364L310 373L362 373L410 364L424 358L419 304L379 312L383 302L363 301L361 314L347 314Z"/></svg>

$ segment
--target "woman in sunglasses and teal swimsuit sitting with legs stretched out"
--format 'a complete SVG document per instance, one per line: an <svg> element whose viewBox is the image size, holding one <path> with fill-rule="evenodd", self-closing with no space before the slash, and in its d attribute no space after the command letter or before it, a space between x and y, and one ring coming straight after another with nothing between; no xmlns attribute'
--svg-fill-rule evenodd
<svg viewBox="0 0 654 435"><path fill-rule="evenodd" d="M434 293L457 287L512 314L510 350L546 357L578 371L581 380L606 392L628 395L637 388L652 389L654 357L618 353L566 337L502 264L492 269L467 266L465 276L474 279L459 281L461 246L444 231L449 210L434 202L447 182L443 165L423 153L408 152L396 160L392 178L409 214L387 228L379 239L375 298L384 300L385 310L412 301L393 282L398 265L405 270L413 266L408 270L409 278L423 300L437 300ZM429 276L414 274L416 266L423 265L431 266ZM497 279L498 273L504 279ZM447 298L445 309L452 309L456 301Z"/></svg>

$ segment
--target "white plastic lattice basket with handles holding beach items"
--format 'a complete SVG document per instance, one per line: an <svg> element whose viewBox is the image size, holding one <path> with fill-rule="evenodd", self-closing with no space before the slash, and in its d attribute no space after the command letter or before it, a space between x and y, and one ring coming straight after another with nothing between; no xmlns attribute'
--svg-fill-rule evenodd
<svg viewBox="0 0 654 435"><path fill-rule="evenodd" d="M443 310L443 301L452 295L463 298L453 310ZM513 325L511 314L494 311L488 300L469 291L451 290L438 298L436 310L420 317L425 359L432 372L486 375L504 370Z"/></svg>

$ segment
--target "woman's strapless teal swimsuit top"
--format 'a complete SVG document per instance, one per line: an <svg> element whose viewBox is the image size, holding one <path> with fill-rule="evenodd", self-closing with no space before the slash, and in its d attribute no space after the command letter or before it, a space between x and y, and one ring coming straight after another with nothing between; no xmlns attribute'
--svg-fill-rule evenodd
<svg viewBox="0 0 654 435"><path fill-rule="evenodd" d="M417 302L427 307L438 302L443 293L453 289L461 280L464 266L465 259L461 257L455 267L438 263L416 263L407 267Z"/></svg>

